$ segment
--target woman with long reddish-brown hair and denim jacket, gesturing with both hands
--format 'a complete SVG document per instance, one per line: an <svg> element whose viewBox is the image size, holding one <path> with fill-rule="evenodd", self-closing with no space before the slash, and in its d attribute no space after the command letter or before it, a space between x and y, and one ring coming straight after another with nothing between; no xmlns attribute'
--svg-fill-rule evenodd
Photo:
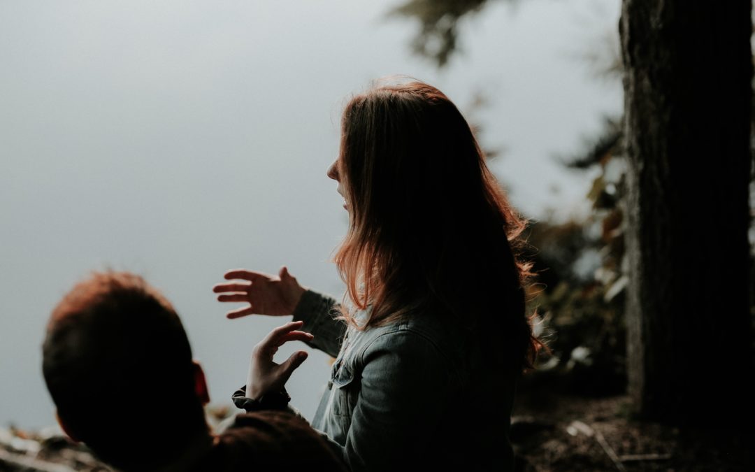
<svg viewBox="0 0 755 472"><path fill-rule="evenodd" d="M308 341L336 357L313 426L353 470L510 470L516 380L540 346L514 251L524 223L436 88L373 88L350 100L342 126L328 177L350 217L334 258L344 304L285 267L232 271L248 282L214 288L220 301L249 302L229 317L294 315L257 346L248 396L279 390L303 360L273 364L277 346Z"/></svg>

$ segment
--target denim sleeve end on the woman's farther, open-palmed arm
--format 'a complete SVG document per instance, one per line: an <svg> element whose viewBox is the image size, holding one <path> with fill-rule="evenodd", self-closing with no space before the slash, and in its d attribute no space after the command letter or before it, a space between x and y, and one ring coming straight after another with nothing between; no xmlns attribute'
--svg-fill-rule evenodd
<svg viewBox="0 0 755 472"><path fill-rule="evenodd" d="M302 329L315 336L307 344L333 357L338 355L346 332L346 322L336 319L337 310L338 303L334 298L311 290L301 295L294 309L294 321L304 321Z"/></svg>

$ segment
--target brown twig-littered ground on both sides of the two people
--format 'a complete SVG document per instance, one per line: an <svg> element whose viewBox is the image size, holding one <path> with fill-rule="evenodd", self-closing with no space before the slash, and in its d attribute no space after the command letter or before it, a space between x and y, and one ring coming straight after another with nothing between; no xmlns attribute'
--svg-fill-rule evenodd
<svg viewBox="0 0 755 472"><path fill-rule="evenodd" d="M222 413L220 409L217 413ZM586 398L526 382L511 440L520 472L755 470L755 433L635 421L627 396ZM0 472L109 470L57 433L0 428Z"/></svg>

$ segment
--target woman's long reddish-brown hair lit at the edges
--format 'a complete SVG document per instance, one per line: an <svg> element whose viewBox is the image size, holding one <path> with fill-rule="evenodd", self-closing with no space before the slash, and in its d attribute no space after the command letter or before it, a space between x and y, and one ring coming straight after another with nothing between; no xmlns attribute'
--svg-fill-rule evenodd
<svg viewBox="0 0 755 472"><path fill-rule="evenodd" d="M353 308L371 305L346 319L366 329L408 313L452 317L495 330L531 367L541 344L525 313L529 265L515 255L525 221L456 106L421 82L384 85L353 97L342 127L350 227L334 259Z"/></svg>

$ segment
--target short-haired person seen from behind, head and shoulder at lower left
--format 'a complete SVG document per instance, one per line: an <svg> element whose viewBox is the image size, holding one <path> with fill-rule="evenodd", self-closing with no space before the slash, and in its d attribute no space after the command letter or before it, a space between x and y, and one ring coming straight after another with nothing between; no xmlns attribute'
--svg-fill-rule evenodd
<svg viewBox="0 0 755 472"><path fill-rule="evenodd" d="M295 327L255 349L311 339ZM205 375L180 319L139 276L94 273L75 285L54 308L42 351L61 427L119 470L345 470L306 421L263 402L213 435ZM285 382L302 360L276 378Z"/></svg>

